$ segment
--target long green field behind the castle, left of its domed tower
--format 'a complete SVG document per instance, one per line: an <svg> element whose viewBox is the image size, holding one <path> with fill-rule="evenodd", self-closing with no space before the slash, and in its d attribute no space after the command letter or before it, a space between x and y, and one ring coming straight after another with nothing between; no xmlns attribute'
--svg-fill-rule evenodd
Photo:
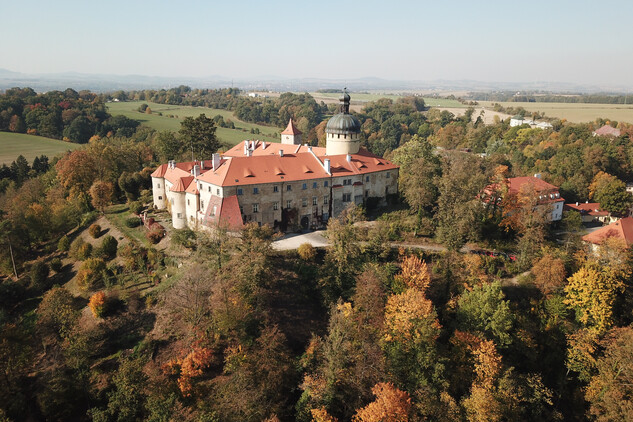
<svg viewBox="0 0 633 422"><path fill-rule="evenodd" d="M138 108L141 104L148 104L152 114L140 113ZM243 122L235 117L233 112L207 107L175 106L169 104L157 104L146 101L125 101L108 103L108 112L113 116L122 114L130 119L138 120L142 124L156 130L178 131L180 122L185 117L198 117L206 114L207 117L214 117L218 114L224 120L231 119L235 124L235 129L219 127L216 131L218 139L230 145L235 145L244 139L260 139L262 141L279 142L279 132L281 128L273 126L263 126L254 123ZM159 115L159 113L162 114ZM173 117L169 117L173 116ZM251 129L259 129L259 134L251 134Z"/></svg>

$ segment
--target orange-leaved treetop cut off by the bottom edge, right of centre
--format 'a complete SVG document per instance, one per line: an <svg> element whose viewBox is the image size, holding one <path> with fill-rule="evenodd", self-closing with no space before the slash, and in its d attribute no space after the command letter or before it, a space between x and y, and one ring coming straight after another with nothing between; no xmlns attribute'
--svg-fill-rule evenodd
<svg viewBox="0 0 633 422"><path fill-rule="evenodd" d="M411 410L411 398L390 382L378 383L371 389L376 400L359 409L353 422L407 422Z"/></svg>

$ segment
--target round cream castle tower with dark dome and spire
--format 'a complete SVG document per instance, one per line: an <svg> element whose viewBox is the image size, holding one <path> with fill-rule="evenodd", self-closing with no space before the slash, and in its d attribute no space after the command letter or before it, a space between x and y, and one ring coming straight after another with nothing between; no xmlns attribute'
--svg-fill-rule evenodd
<svg viewBox="0 0 633 422"><path fill-rule="evenodd" d="M332 116L325 127L327 155L356 154L360 148L360 121L349 114L349 100L345 88L339 99L338 114Z"/></svg>

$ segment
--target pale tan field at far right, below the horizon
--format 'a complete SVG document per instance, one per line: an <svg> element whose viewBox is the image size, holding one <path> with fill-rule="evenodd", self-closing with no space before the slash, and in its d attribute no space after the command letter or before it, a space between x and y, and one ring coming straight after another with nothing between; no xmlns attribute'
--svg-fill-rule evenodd
<svg viewBox="0 0 633 422"><path fill-rule="evenodd" d="M479 101L483 107L492 109L495 101ZM523 107L527 111L543 112L547 117L567 119L573 123L593 122L596 118L633 123L632 104L579 104L579 103L519 103L499 102L504 107Z"/></svg>

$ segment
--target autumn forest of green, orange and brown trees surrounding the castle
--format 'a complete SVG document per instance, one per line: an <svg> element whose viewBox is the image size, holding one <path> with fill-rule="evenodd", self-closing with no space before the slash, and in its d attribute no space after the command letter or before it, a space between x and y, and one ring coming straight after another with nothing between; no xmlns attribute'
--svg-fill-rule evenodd
<svg viewBox="0 0 633 422"><path fill-rule="evenodd" d="M210 98L237 108L236 94ZM45 94L6 95L23 105L5 117L27 124ZM78 95L90 110L107 100ZM323 142L324 109L312 121L303 96L273 102ZM219 148L203 116L166 133L106 130L102 115L82 148L16 160L0 173L0 421L633 420L630 248L591 252L579 214L550 224L529 196L484 197L540 173L566 202L625 215L633 127L486 126L473 113L417 98L358 113L365 147L400 166L399 197L331 219L327 248L276 251L278 234L256 225L167 224L165 239L135 227L144 211L161 217L148 190L158 164L192 142ZM622 135L592 136L605 123ZM145 234L116 235L115 217Z"/></svg>

